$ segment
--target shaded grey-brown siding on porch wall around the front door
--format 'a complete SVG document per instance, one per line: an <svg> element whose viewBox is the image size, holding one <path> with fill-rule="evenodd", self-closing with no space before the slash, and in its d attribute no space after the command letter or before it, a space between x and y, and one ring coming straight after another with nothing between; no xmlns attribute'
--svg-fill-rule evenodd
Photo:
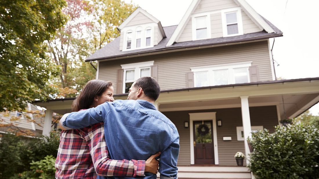
<svg viewBox="0 0 319 179"><path fill-rule="evenodd" d="M263 125L270 132L274 132L274 126L278 125L276 106L250 107L249 110L251 125ZM216 118L222 120L222 126L217 127L219 165L236 166L235 153L245 152L244 141L237 141L236 133L236 126L242 126L241 108L163 112L176 125L180 135L180 154L177 164L190 165L190 134L189 128L184 128L183 123L189 121L188 113L195 112L216 112ZM228 136L232 137L232 140L223 141L223 137Z"/></svg>

